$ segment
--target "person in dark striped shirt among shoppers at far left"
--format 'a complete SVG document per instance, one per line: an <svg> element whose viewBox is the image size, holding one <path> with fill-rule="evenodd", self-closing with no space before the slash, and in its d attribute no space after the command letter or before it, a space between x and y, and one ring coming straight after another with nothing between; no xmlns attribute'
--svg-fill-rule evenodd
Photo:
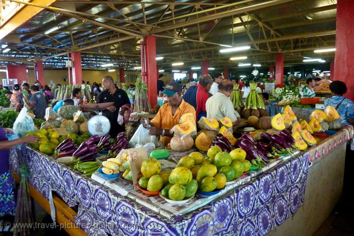
<svg viewBox="0 0 354 236"><path fill-rule="evenodd" d="M33 110L35 118L42 119L45 116L45 110L47 108L47 101L45 96L39 91L39 87L36 85L32 85L31 88L32 96L27 99L24 97L23 100L27 104L29 110Z"/></svg>

